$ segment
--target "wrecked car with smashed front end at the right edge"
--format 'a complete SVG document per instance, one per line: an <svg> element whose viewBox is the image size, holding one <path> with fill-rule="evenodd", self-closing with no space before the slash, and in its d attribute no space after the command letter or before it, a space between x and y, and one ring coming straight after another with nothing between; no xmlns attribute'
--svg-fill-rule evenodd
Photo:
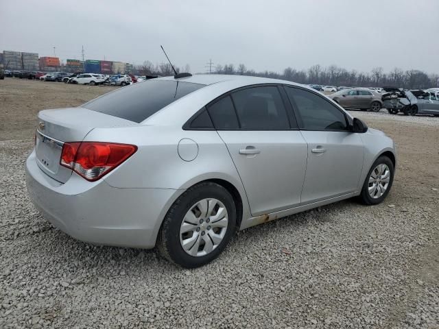
<svg viewBox="0 0 439 329"><path fill-rule="evenodd" d="M383 89L383 107L387 108L390 114L401 112L405 115L432 114L439 117L439 93L395 87Z"/></svg>

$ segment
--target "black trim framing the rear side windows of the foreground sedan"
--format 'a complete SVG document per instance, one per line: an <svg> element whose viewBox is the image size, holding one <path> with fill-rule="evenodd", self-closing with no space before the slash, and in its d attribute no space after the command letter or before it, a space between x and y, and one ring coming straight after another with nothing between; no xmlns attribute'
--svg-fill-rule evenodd
<svg viewBox="0 0 439 329"><path fill-rule="evenodd" d="M245 128L241 128L241 121L239 121L239 117L237 114L237 110L236 110L236 106L235 106L235 101L233 100L232 94L236 93L237 91L240 90L246 90L246 89L250 89L250 88L258 88L258 87L268 87L268 86L275 86L277 87L278 93L281 95L281 99L283 102L283 106L285 108L285 112L287 114L287 118L288 118L288 125L289 128L288 129L254 129L254 128L250 128L250 129L245 129ZM226 93L219 95L218 97L216 97L215 99L213 99L212 101L209 101L209 103L207 103L205 106L203 106L202 108L200 108L200 110L198 110L197 112L195 112L195 114L193 114L192 117L189 118L188 121L186 121L186 123L182 126L182 130L217 130L217 131L242 131L242 132L288 132L290 130L299 130L299 125L298 125L298 121L296 119L296 114L294 114L294 110L291 106L291 103L289 103L288 97L285 93L285 90L283 90L282 86L285 86L285 84L251 84L248 86L242 86L239 88L235 88L232 90L228 90ZM213 128L196 128L196 127L191 127L191 123L192 121L198 117L198 115L206 110L207 114L209 114L209 117L211 117L211 114L209 113L209 106L212 106L213 104L215 104L217 101L220 101L223 98L226 97L230 97L230 99L232 100L233 103L233 109L235 110L235 115L237 117L237 121L238 121L238 125L239 127L237 128L215 128L215 125L213 126ZM211 117L211 121L213 124L213 120ZM292 123L296 123L296 127L292 126Z"/></svg>

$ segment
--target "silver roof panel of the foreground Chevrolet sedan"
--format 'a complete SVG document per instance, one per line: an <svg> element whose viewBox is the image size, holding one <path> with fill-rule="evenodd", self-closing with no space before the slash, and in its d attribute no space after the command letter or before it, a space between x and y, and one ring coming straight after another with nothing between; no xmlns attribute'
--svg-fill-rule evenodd
<svg viewBox="0 0 439 329"><path fill-rule="evenodd" d="M270 79L268 77L252 77L250 75L194 74L190 77L180 77L178 79L175 79L173 76L157 77L156 80L184 81L193 84L204 84L206 86L217 84L219 82L230 82L233 85L241 84L242 86L249 86L252 84L291 84L293 86L305 86L287 80Z"/></svg>

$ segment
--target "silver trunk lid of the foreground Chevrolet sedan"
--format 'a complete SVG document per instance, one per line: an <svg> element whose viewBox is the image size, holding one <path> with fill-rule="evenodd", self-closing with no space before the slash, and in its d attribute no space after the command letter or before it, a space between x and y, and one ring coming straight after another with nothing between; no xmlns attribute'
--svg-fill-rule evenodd
<svg viewBox="0 0 439 329"><path fill-rule="evenodd" d="M86 108L40 111L35 145L38 167L58 182L67 182L72 171L60 165L64 142L81 142L91 130L97 127L126 127L130 125L139 124Z"/></svg>

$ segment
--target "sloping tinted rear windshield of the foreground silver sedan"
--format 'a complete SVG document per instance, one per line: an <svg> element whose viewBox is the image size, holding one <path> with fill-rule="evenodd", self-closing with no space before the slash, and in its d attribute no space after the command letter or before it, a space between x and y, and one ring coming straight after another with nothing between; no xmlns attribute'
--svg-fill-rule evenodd
<svg viewBox="0 0 439 329"><path fill-rule="evenodd" d="M147 80L93 99L82 107L140 123L173 101L202 87L204 84Z"/></svg>

